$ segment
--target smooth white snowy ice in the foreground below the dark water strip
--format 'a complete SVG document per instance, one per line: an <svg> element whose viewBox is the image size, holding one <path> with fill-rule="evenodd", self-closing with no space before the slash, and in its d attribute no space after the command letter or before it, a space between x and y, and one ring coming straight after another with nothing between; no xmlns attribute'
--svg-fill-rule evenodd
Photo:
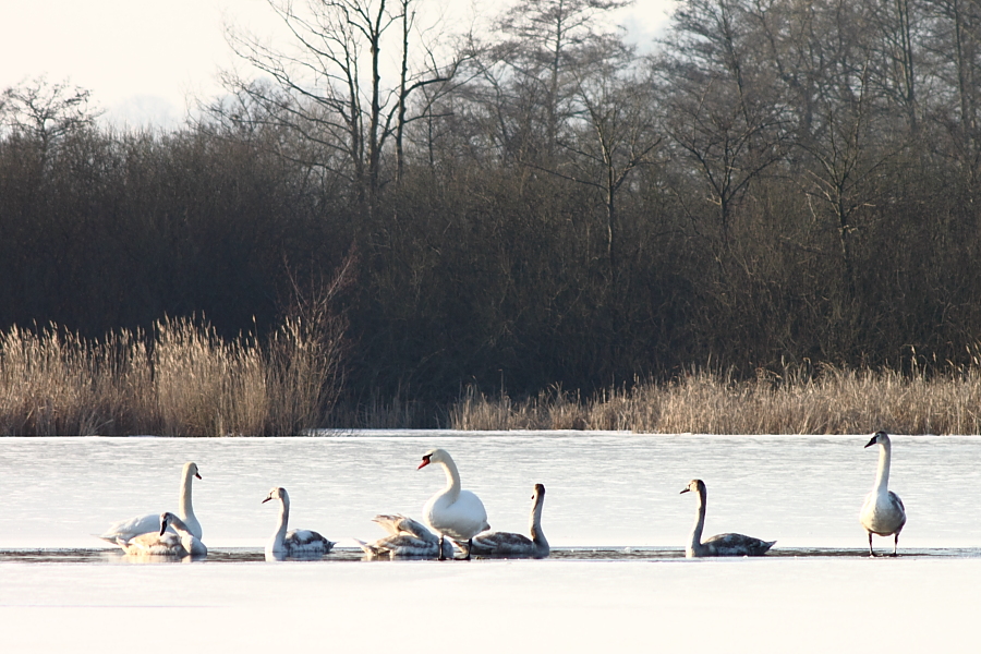
<svg viewBox="0 0 981 654"><path fill-rule="evenodd" d="M0 566L4 652L977 652L981 559Z"/></svg>

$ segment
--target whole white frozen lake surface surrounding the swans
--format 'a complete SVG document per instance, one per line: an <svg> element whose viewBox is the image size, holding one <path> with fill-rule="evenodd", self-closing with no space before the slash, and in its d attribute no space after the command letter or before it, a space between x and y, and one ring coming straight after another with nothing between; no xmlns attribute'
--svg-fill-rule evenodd
<svg viewBox="0 0 981 654"><path fill-rule="evenodd" d="M858 510L872 487L868 435L664 436L367 432L324 438L0 439L0 619L10 651L179 646L512 646L526 651L974 651L981 598L981 439L894 437L891 488L909 512L898 559L870 559ZM417 471L444 447L494 529L525 531L545 484L544 561L360 562L379 512L420 517L443 484ZM110 565L92 534L177 509L197 462L203 564ZM777 540L763 559L679 558L708 487L706 535ZM291 525L342 549L266 564L269 487ZM875 538L876 549L892 541ZM57 629L51 626L57 625ZM384 629L383 633L378 630ZM150 635L153 634L153 635Z"/></svg>

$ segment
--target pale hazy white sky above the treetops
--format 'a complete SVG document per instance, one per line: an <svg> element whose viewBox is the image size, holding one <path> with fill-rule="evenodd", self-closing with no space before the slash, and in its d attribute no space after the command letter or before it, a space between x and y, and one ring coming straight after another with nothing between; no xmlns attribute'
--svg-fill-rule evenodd
<svg viewBox="0 0 981 654"><path fill-rule="evenodd" d="M432 0L447 1L465 2ZM649 43L673 5L635 0L618 19ZM92 90L109 121L173 124L189 97L221 93L218 71L235 61L225 24L272 34L276 21L266 0L0 0L0 90L45 75Z"/></svg>

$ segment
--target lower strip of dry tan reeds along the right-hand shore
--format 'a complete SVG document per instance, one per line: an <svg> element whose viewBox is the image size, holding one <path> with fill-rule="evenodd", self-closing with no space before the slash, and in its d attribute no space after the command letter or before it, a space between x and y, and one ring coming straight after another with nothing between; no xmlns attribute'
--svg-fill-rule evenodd
<svg viewBox="0 0 981 654"><path fill-rule="evenodd" d="M516 402L476 391L449 411L459 429L616 429L662 434L981 434L981 367L944 373L850 370L690 371L586 401L560 390Z"/></svg>

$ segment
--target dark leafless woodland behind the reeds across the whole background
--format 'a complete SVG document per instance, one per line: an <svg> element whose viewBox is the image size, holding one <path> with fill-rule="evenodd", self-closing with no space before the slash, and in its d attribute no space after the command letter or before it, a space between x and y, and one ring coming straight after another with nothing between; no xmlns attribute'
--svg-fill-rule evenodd
<svg viewBox="0 0 981 654"><path fill-rule="evenodd" d="M232 33L262 75L167 133L8 89L0 328L265 335L348 262L353 411L972 363L981 2L689 0L649 55L604 21L618 2L438 44L414 4L270 0L305 40Z"/></svg>

